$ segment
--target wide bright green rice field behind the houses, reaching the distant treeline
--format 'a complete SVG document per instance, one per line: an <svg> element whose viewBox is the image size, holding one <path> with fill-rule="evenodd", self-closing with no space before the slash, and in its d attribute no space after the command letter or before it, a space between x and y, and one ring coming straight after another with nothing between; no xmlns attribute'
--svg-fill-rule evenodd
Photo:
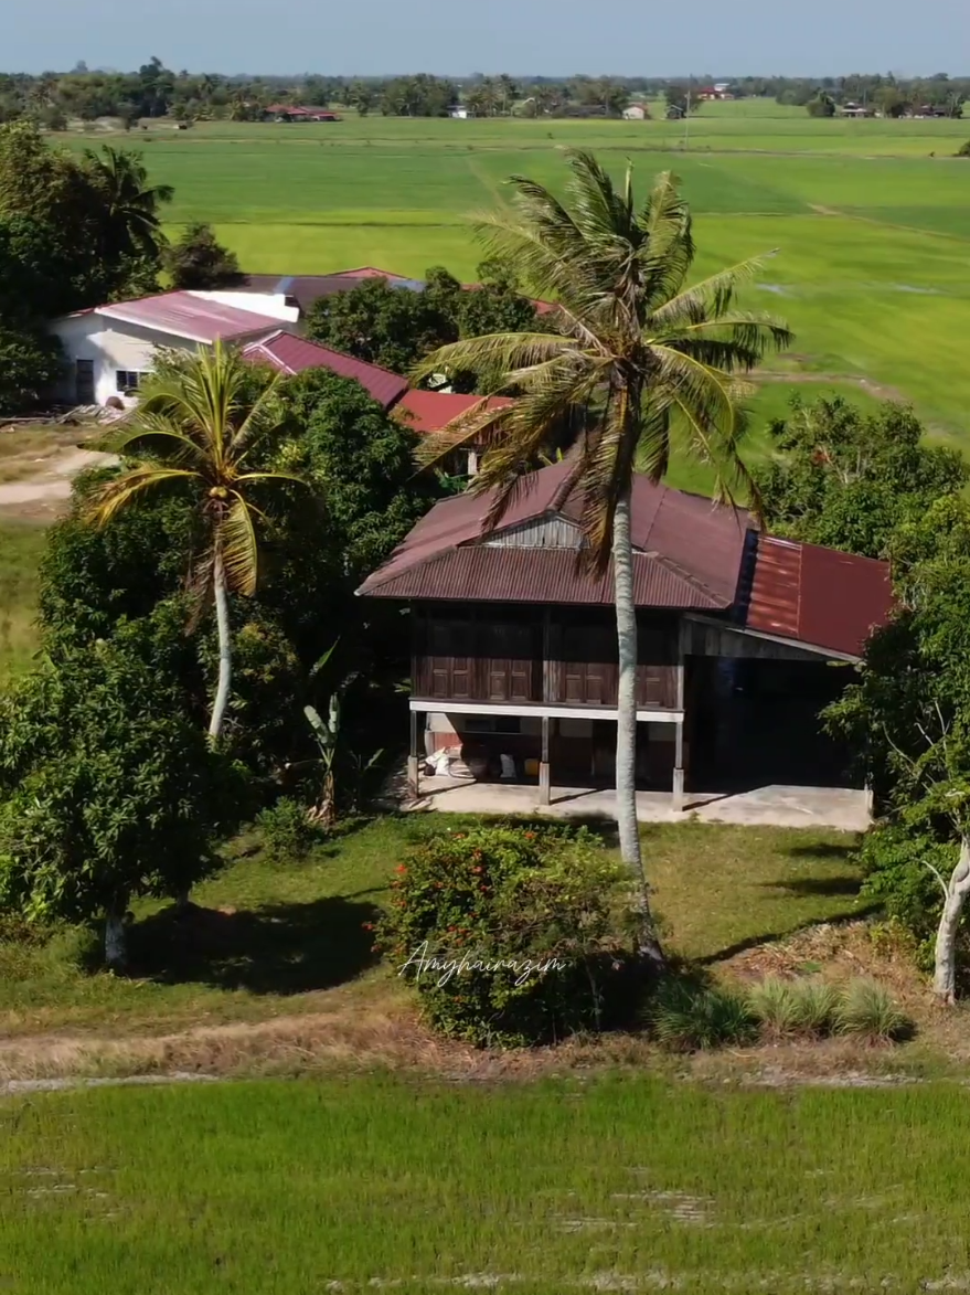
<svg viewBox="0 0 970 1295"><path fill-rule="evenodd" d="M686 136L686 137L685 137ZM561 184L559 148L589 148L645 188L673 168L697 216L698 273L774 253L747 293L784 315L773 368L874 383L970 444L970 120L817 120L800 109L706 105L684 123L461 122L348 114L334 124L229 122L126 136L175 185L174 227L215 224L251 272L378 265L471 276L469 216L524 172ZM89 142L79 136L70 142Z"/></svg>

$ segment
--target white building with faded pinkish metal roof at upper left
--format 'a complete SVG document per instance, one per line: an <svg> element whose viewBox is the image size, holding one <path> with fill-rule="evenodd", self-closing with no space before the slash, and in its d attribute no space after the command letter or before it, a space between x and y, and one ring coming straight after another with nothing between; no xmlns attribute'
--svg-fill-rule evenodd
<svg viewBox="0 0 970 1295"><path fill-rule="evenodd" d="M75 311L54 320L66 372L57 399L70 404L131 404L158 347L196 351L199 346L247 342L271 329L295 332L299 310L282 294L162 293Z"/></svg>

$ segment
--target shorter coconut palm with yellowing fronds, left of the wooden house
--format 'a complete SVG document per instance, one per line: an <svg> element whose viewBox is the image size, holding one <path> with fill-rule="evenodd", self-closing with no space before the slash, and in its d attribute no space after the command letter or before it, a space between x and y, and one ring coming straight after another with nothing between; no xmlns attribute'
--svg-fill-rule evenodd
<svg viewBox="0 0 970 1295"><path fill-rule="evenodd" d="M194 497L205 524L194 592L215 603L219 633L219 681L209 734L223 732L232 686L229 593L251 597L259 580L258 528L268 518L264 495L291 473L264 464L282 431L276 378L262 378L219 342L186 357L163 360L140 390L118 453L128 466L88 504L87 515L106 526L122 509L162 487ZM256 502L259 500L259 502Z"/></svg>

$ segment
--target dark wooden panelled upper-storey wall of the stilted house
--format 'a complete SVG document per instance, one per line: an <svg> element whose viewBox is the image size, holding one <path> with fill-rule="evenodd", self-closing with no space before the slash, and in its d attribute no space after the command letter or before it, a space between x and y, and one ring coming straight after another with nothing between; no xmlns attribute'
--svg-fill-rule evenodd
<svg viewBox="0 0 970 1295"><path fill-rule="evenodd" d="M611 611L478 605L414 610L414 695L455 702L616 704L616 631ZM645 613L640 624L637 703L677 704L677 618Z"/></svg>

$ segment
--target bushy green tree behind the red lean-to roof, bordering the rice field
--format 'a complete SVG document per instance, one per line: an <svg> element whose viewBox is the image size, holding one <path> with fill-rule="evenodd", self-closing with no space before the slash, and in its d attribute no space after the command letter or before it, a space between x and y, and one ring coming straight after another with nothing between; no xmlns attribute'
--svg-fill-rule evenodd
<svg viewBox="0 0 970 1295"><path fill-rule="evenodd" d="M755 478L772 531L865 557L883 557L897 526L970 477L957 451L927 445L913 411L888 401L868 414L840 396L795 396L771 431L777 453Z"/></svg>

